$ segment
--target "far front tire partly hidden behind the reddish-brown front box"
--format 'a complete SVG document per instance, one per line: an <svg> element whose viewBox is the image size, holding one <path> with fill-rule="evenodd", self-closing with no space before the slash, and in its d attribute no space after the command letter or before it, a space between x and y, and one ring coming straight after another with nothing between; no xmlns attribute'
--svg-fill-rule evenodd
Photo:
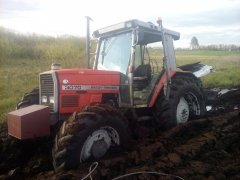
<svg viewBox="0 0 240 180"><path fill-rule="evenodd" d="M16 109L21 109L33 104L39 104L39 88L34 88L29 93L26 93L22 100L17 103Z"/></svg>

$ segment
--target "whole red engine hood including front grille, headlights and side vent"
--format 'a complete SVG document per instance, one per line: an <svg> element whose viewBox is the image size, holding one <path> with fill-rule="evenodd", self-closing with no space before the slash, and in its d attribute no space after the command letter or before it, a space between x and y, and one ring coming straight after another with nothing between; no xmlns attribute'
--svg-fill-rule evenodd
<svg viewBox="0 0 240 180"><path fill-rule="evenodd" d="M41 104L70 114L119 93L120 73L93 69L59 69L40 74Z"/></svg>

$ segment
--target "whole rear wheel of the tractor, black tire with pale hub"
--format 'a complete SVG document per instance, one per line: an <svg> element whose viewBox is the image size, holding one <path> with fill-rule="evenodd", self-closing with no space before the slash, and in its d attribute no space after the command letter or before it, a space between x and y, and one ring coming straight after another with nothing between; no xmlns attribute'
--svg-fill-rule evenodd
<svg viewBox="0 0 240 180"><path fill-rule="evenodd" d="M154 108L156 122L162 130L202 116L205 112L203 91L190 77L173 78L169 100L162 92Z"/></svg>

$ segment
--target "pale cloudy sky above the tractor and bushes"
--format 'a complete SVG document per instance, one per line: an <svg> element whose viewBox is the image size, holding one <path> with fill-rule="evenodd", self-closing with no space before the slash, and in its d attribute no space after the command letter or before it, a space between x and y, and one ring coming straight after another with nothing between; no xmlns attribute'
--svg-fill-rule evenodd
<svg viewBox="0 0 240 180"><path fill-rule="evenodd" d="M0 26L19 33L85 36L129 19L156 22L181 33L176 47L240 45L240 0L0 0Z"/></svg>

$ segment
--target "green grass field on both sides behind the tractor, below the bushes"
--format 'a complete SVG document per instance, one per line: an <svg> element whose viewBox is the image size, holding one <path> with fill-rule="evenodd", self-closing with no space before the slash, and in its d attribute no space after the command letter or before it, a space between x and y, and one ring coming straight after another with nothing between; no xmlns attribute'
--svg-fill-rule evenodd
<svg viewBox="0 0 240 180"><path fill-rule="evenodd" d="M205 87L240 86L240 52L178 50L177 65L201 61L212 65L216 72L204 77ZM9 58L0 59L0 122L5 122L6 114L14 110L16 103L25 92L38 86L38 74L50 69L53 62L65 68L84 67L84 57L60 60Z"/></svg>

